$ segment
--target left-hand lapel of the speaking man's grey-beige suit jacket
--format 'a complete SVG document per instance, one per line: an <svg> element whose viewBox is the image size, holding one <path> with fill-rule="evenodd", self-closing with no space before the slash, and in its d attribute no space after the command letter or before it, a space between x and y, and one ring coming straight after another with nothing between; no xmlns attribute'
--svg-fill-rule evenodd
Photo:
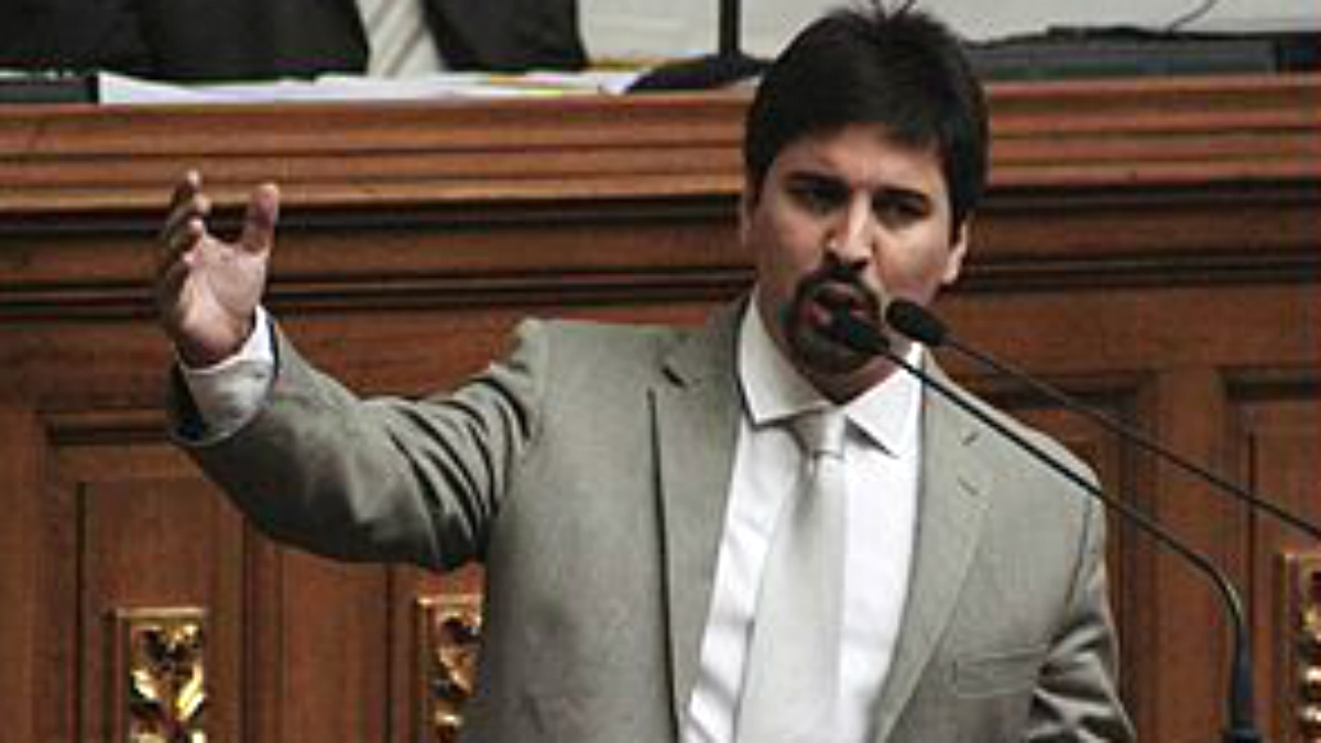
<svg viewBox="0 0 1321 743"><path fill-rule="evenodd" d="M728 308L678 346L666 362L667 381L651 390L670 678L680 724L696 682L738 435L741 406L733 373L738 316L737 308Z"/></svg>

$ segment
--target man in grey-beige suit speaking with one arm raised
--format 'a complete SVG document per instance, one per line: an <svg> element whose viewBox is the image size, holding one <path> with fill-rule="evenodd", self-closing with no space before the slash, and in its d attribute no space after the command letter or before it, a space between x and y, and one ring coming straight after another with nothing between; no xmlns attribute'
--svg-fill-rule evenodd
<svg viewBox="0 0 1321 743"><path fill-rule="evenodd" d="M277 539L485 563L470 740L1128 740L1100 509L830 329L958 278L985 148L943 26L831 15L748 115L750 297L701 329L530 321L419 402L357 398L266 319L273 186L225 243L189 176L157 286L182 443Z"/></svg>

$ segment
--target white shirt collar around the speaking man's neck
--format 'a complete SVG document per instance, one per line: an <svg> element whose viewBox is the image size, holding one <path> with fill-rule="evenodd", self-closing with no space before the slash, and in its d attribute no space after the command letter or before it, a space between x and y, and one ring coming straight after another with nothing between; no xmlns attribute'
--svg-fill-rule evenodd
<svg viewBox="0 0 1321 743"><path fill-rule="evenodd" d="M914 342L906 360L918 365L922 357L922 346ZM738 332L738 385L754 428L832 405L781 353L757 311L756 299L746 304ZM875 444L901 455L913 450L921 397L921 383L900 370L841 410Z"/></svg>

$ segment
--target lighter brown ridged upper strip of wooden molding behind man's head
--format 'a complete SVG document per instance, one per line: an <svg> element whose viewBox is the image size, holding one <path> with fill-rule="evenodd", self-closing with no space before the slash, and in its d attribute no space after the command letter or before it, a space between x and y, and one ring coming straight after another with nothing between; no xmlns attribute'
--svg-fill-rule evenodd
<svg viewBox="0 0 1321 743"><path fill-rule="evenodd" d="M1316 180L1321 77L997 83L995 189ZM744 94L481 103L37 106L0 116L0 214L156 209L201 167L293 202L736 193ZM8 221L8 219L7 219Z"/></svg>

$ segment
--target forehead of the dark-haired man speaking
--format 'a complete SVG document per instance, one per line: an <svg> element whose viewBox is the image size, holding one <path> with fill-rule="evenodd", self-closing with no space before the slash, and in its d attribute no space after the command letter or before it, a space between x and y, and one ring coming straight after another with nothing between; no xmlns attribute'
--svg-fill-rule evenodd
<svg viewBox="0 0 1321 743"><path fill-rule="evenodd" d="M849 124L794 140L779 151L771 175L826 176L856 186L904 186L943 196L941 165L934 143L913 145L898 141L881 124Z"/></svg>

